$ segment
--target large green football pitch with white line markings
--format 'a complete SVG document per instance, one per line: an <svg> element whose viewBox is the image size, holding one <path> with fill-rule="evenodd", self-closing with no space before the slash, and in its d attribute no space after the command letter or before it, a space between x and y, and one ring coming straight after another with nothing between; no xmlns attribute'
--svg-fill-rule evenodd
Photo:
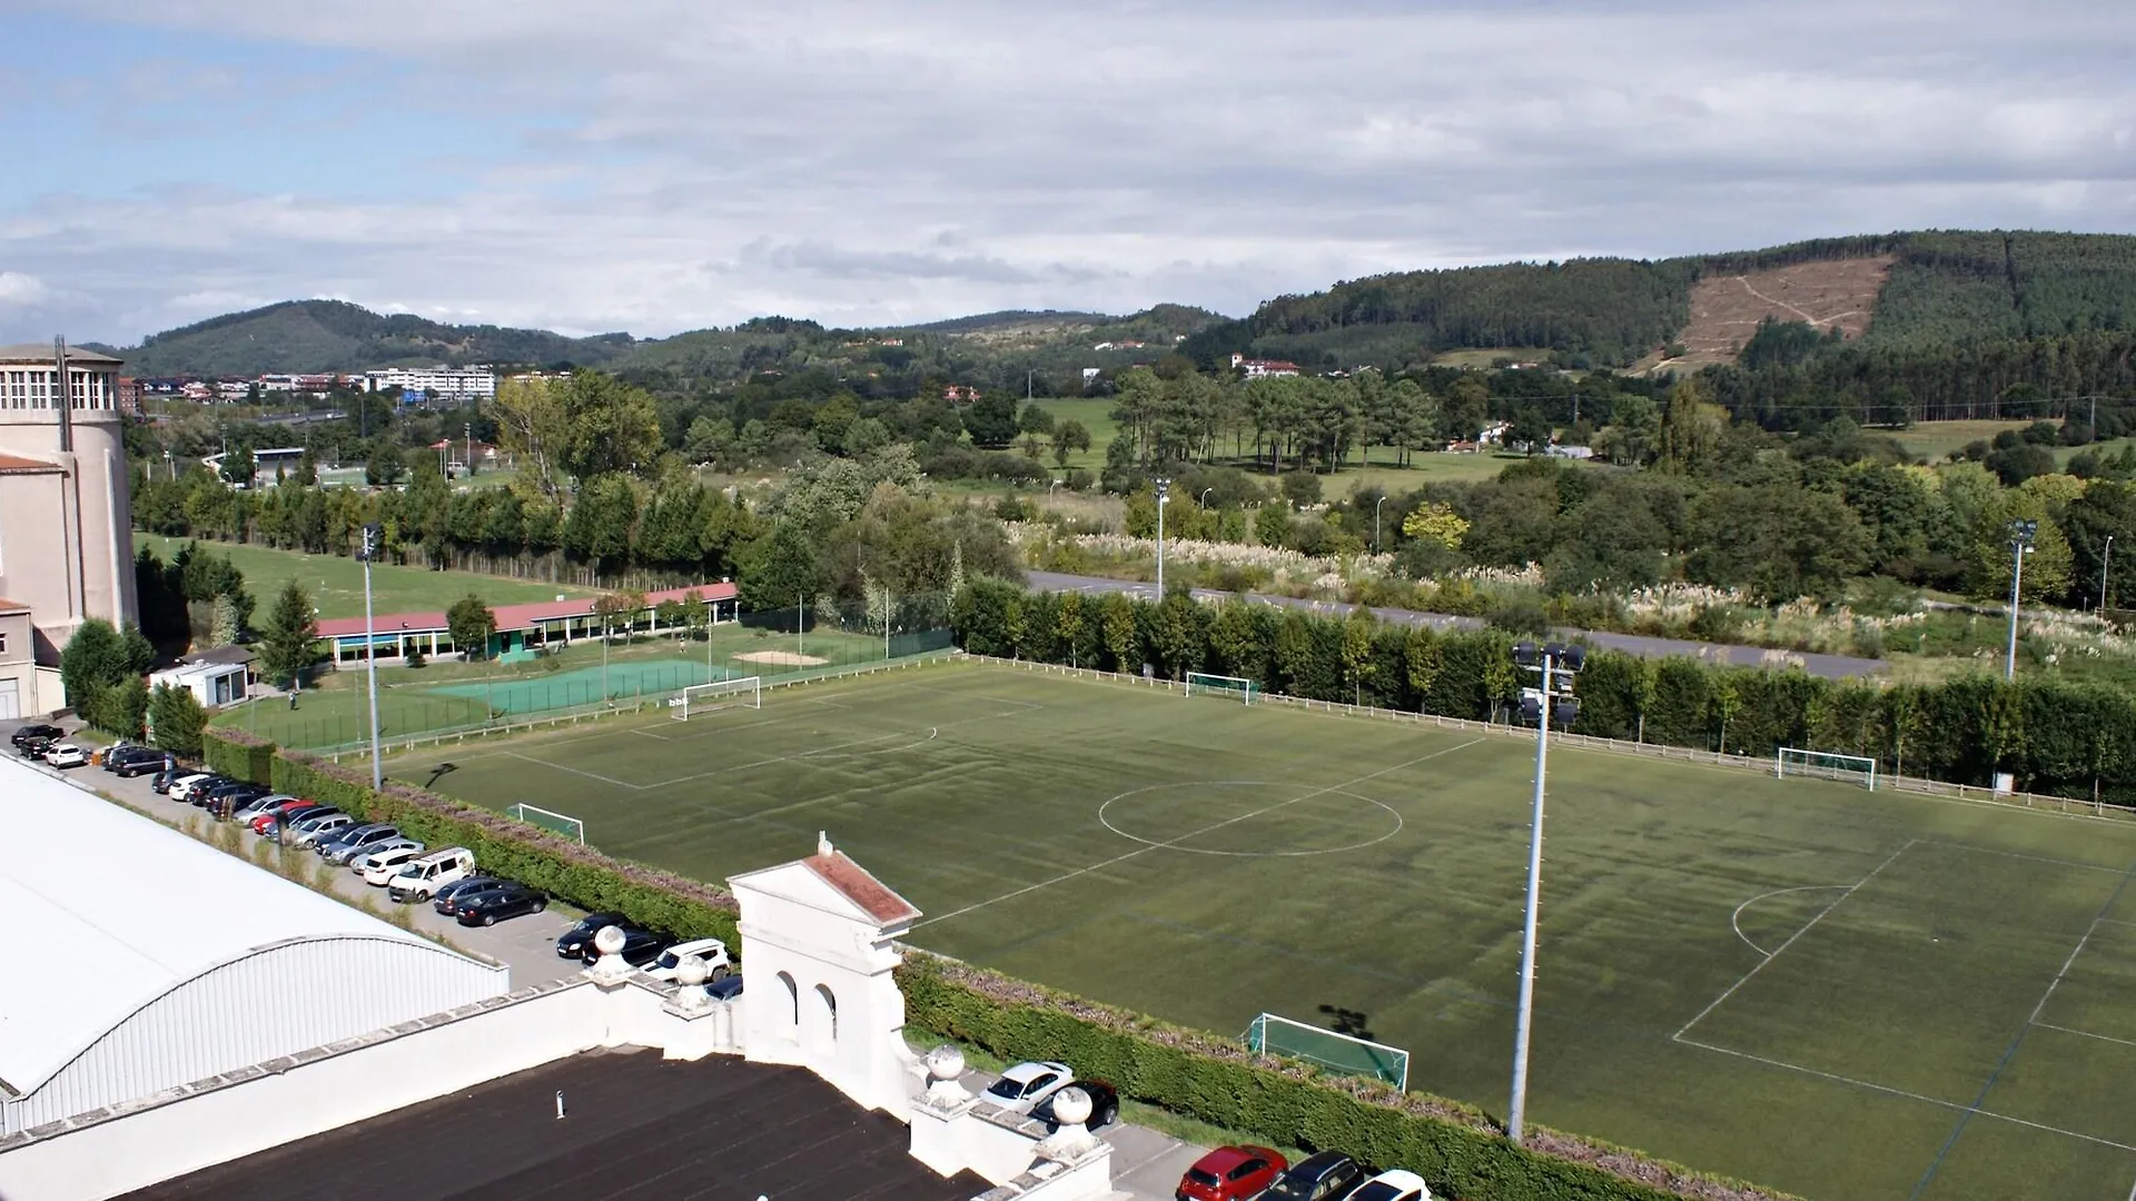
<svg viewBox="0 0 2136 1201"><path fill-rule="evenodd" d="M1534 742L976 662L440 746L705 880L829 831L912 942L1506 1109ZM1534 1122L1816 1199L2136 1186L2136 825L1551 752Z"/></svg>

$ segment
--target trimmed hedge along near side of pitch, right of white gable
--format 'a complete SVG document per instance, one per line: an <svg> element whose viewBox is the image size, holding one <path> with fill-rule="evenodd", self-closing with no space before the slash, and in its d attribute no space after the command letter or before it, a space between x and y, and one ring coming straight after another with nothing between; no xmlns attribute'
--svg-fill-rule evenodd
<svg viewBox="0 0 2136 1201"><path fill-rule="evenodd" d="M1405 1167L1433 1195L1470 1201L1777 1201L1786 1195L1705 1175L1634 1150L1529 1128L1512 1143L1480 1109L1378 1081L1320 1075L1239 1043L1166 1026L998 972L906 951L906 1021L1004 1060L1064 1060L1173 1113L1260 1141L1339 1150Z"/></svg>

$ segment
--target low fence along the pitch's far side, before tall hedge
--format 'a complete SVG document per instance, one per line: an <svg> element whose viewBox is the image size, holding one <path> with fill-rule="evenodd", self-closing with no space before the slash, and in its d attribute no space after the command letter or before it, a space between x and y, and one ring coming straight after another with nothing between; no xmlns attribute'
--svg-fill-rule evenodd
<svg viewBox="0 0 2136 1201"><path fill-rule="evenodd" d="M995 662L1002 667L1019 667L1023 671L1036 671L1042 675L1072 675L1079 680L1098 680L1111 684L1124 684L1132 688L1162 688L1168 692L1185 692L1185 684L1179 680L1164 680L1162 675L1126 675L1119 671L1098 671L1094 667L1066 667L1059 662L1032 662L1027 658L995 658L991 654L965 654L972 662ZM1438 714L1418 714L1412 709L1382 709L1378 705L1346 705L1341 701L1312 701L1303 697L1286 697L1282 692L1254 692L1256 705L1288 705L1292 709L1316 709L1326 714L1341 714L1367 720L1393 720L1425 727L1440 727L1450 731L1482 733L1497 737L1519 737L1532 742L1536 737L1534 727L1521 724L1499 724L1499 722L1478 722L1470 718L1442 718ZM1617 737L1596 737L1587 733L1551 731L1553 746L1572 746L1579 750L1604 750L1611 754L1632 754L1640 759L1668 759L1675 763L1698 763L1705 767L1726 767L1734 771L1758 771L1760 776L1773 774L1773 761L1769 757L1752 754L1730 754L1717 750L1698 750L1687 746L1662 746L1655 742L1623 742ZM1878 791L1895 789L1901 793L1920 793L1929 797L1952 797L1961 801L1982 801L2012 808L2033 808L2033 810L2055 810L2066 814L2087 814L2102 818L2136 818L2136 806L2117 806L2108 801L2085 801L2074 797L2051 797L2044 793L1999 793L1995 789L1982 789L1978 784L1946 784L1944 780L1920 780L1916 776L1886 776L1878 774Z"/></svg>

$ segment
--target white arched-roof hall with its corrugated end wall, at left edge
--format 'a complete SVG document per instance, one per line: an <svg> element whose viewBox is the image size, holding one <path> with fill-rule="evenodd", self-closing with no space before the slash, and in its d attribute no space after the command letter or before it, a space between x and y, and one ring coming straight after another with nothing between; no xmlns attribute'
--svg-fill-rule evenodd
<svg viewBox="0 0 2136 1201"><path fill-rule="evenodd" d="M19 936L0 972L0 1137L511 989L502 966L28 763L0 761L0 829Z"/></svg>

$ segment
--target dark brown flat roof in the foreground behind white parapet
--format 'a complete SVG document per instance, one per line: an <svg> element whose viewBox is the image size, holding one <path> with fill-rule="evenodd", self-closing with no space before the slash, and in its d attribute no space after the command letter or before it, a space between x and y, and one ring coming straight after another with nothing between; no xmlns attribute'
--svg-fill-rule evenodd
<svg viewBox="0 0 2136 1201"><path fill-rule="evenodd" d="M564 1092L564 1120L555 1094ZM910 1133L807 1069L587 1054L128 1197L167 1201L965 1201Z"/></svg>

